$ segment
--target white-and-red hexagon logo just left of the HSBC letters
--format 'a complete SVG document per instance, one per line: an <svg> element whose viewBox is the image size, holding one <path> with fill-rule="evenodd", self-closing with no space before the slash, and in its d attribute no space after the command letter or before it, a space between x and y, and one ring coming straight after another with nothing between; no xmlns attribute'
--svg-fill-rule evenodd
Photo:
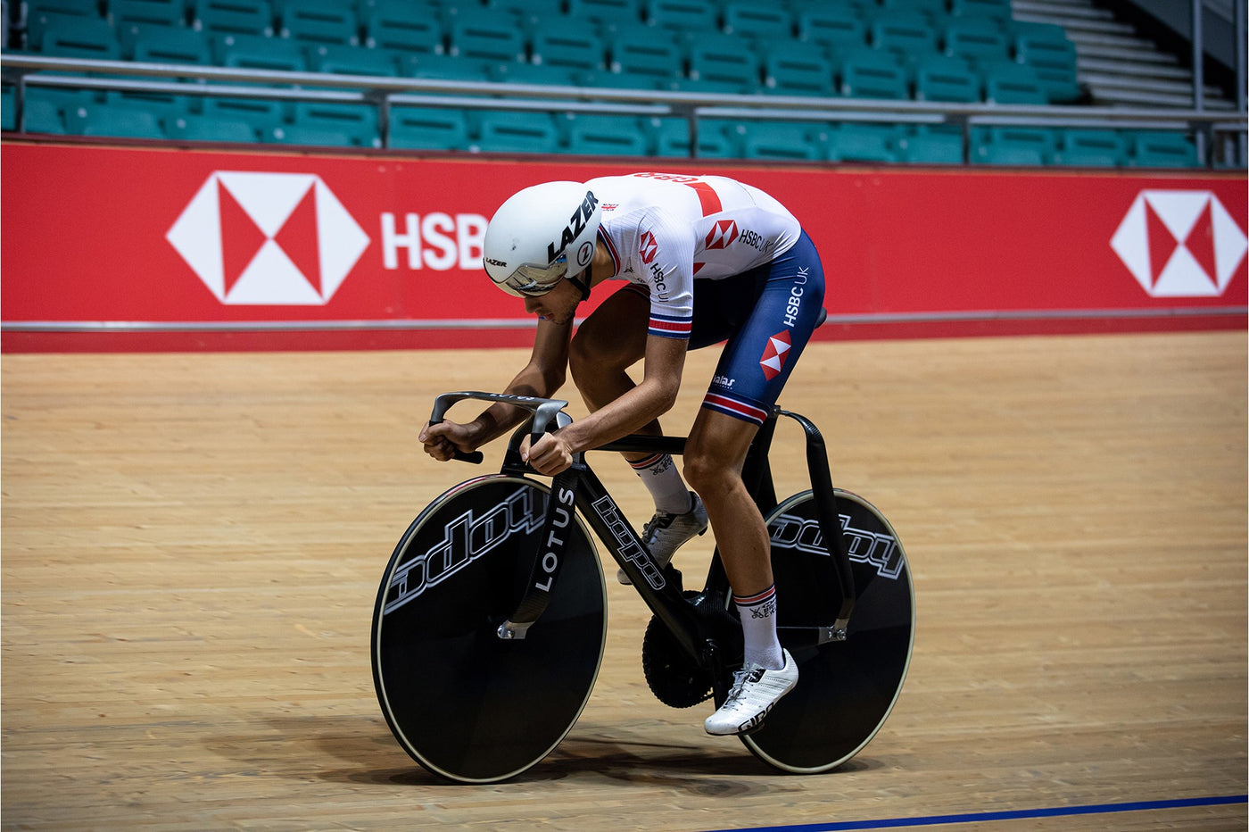
<svg viewBox="0 0 1249 832"><path fill-rule="evenodd" d="M323 306L368 246L315 174L215 171L165 239L231 305Z"/></svg>

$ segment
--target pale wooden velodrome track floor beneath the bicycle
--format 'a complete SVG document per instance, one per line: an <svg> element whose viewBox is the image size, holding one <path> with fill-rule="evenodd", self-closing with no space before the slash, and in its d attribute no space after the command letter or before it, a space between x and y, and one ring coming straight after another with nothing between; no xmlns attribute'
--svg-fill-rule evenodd
<svg viewBox="0 0 1249 832"><path fill-rule="evenodd" d="M611 582L568 738L452 786L382 720L370 616L412 516L480 472L420 452L432 396L522 357L6 355L4 828L1245 828L1244 331L812 346L783 404L914 572L883 731L808 777L706 736L709 705L647 690L643 607ZM776 455L802 468L792 433Z"/></svg>

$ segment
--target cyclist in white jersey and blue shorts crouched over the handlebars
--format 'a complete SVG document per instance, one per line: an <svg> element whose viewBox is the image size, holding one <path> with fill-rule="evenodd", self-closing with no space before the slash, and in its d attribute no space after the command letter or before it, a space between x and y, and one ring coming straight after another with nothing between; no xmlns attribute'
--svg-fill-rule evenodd
<svg viewBox="0 0 1249 832"><path fill-rule="evenodd" d="M573 453L627 433L659 435L687 349L727 340L682 471L668 455L626 457L654 497L643 540L661 567L709 518L746 652L704 728L757 728L793 690L798 670L777 640L768 531L741 471L818 321L824 277L814 245L781 202L743 182L633 174L521 190L487 226L483 255L490 279L538 316L530 361L506 392L550 397L571 370L591 411L532 446L526 440L522 455L541 473L558 473ZM573 335L578 305L607 281L624 286ZM634 384L626 371L638 360L642 380ZM447 460L453 448L472 451L527 415L495 404L467 423L426 425L420 438L427 453ZM618 578L628 582L623 572Z"/></svg>

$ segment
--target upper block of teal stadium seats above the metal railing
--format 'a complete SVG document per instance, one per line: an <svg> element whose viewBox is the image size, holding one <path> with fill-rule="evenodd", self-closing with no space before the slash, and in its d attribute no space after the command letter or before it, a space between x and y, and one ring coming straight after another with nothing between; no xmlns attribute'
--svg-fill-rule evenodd
<svg viewBox="0 0 1249 832"><path fill-rule="evenodd" d="M111 0L110 9L116 9L104 17L65 10L94 1L39 0L60 10L32 15L26 47L76 57L388 76L432 71L511 80L507 76L515 75L555 84L570 82L572 74L610 71L621 76L605 79L612 86L692 82L747 95L776 91L957 101L1002 101L988 85L1000 85L1000 77L1009 81L1008 87L1017 87L1023 74L1030 87L1027 97L1010 102L1070 101L1080 94L1075 50L1058 26L963 15L934 27L933 16L924 11L884 14L883 6L873 6L881 14L871 19L844 0L844 5L813 6L793 19L783 7L729 2L722 31L563 14L538 17L532 6L525 6L526 15L456 6L456 14L441 15L443 26L440 15L423 14L412 2L372 6L361 21L346 0L292 2L279 17L266 0L195 0L186 17L174 19L155 12L140 16L127 9L172 5L177 11L182 0ZM681 4L698 2L706 10L714 7L711 0L664 2L656 7L684 9ZM734 22L738 19L731 12L746 10L759 15L771 10L783 20L776 26ZM600 82L598 77L588 80Z"/></svg>

